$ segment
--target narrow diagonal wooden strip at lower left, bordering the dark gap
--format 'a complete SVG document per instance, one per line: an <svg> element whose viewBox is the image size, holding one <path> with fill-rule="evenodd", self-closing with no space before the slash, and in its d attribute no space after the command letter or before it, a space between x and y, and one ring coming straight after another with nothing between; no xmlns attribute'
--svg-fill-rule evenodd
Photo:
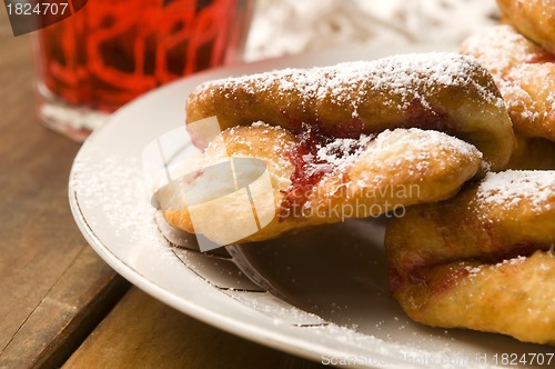
<svg viewBox="0 0 555 369"><path fill-rule="evenodd" d="M4 347L1 367L62 365L127 289L90 247L81 248Z"/></svg>

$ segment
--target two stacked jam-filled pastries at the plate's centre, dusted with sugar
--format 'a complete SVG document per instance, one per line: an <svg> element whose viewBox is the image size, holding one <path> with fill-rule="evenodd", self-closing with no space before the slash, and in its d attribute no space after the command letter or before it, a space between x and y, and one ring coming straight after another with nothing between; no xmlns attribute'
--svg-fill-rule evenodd
<svg viewBox="0 0 555 369"><path fill-rule="evenodd" d="M223 132L208 143L198 166L228 156L255 158L271 177L273 203L256 211L275 215L239 243L451 198L467 180L502 170L514 147L494 80L475 59L457 53L210 81L190 94L186 119L213 116ZM221 209L235 225L239 206ZM195 208L195 216L213 211ZM164 217L195 232L186 208L168 209Z"/></svg>

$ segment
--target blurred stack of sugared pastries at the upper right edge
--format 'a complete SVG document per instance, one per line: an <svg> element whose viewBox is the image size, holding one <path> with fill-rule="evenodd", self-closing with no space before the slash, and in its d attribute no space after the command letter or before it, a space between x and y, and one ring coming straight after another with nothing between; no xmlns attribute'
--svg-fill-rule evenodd
<svg viewBox="0 0 555 369"><path fill-rule="evenodd" d="M509 167L555 169L555 1L498 0L502 23L466 39L461 52L494 77L516 133Z"/></svg>

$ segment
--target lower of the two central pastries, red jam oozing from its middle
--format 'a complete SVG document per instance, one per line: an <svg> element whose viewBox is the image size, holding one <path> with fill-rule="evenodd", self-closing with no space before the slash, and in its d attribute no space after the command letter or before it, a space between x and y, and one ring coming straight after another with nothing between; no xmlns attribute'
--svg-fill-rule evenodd
<svg viewBox="0 0 555 369"><path fill-rule="evenodd" d="M263 160L273 192L271 209L256 209L259 217L260 211L270 211L272 220L234 243L443 200L473 178L482 161L474 146L432 130L395 129L355 139L332 139L316 128L299 134L256 122L223 131L189 169L214 166L229 157ZM248 226L252 215L241 210L241 203L230 199L220 205L218 213L206 208L205 213L201 209L195 216L224 223L233 219L233 227L239 228L243 222ZM186 203L181 208L170 203L162 213L171 226L195 232ZM221 232L229 231L222 225ZM218 233L204 236L219 242Z"/></svg>

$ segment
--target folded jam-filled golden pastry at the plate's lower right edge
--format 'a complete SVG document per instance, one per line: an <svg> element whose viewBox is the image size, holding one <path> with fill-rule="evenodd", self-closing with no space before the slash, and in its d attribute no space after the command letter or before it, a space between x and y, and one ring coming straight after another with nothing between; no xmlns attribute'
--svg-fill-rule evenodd
<svg viewBox="0 0 555 369"><path fill-rule="evenodd" d="M555 345L555 171L488 173L387 226L391 289L415 321Z"/></svg>

